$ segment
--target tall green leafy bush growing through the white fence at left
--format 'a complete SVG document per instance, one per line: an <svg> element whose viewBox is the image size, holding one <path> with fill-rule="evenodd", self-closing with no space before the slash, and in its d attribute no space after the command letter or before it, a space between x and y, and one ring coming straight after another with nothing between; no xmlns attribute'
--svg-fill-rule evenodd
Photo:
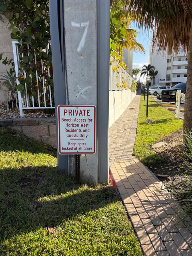
<svg viewBox="0 0 192 256"><path fill-rule="evenodd" d="M44 102L54 106L48 0L2 0L0 10L10 22L11 38L19 42L16 77L20 84L16 89L29 106L33 101L35 106L44 106ZM12 65L12 59L2 59L2 54L0 60ZM14 65L10 68L13 73Z"/></svg>

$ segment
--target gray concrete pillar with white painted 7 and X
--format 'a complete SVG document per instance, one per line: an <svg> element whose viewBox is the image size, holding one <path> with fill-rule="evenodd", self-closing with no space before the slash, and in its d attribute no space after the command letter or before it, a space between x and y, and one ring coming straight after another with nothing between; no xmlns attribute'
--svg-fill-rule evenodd
<svg viewBox="0 0 192 256"><path fill-rule="evenodd" d="M51 6L54 1L50 0ZM80 156L80 181L103 183L108 180L110 0L63 0L62 4L64 33L60 44L64 49L61 55L64 58L66 104L95 105L98 114L96 153ZM53 17L51 22L57 26ZM52 37L54 25L51 26ZM54 51L58 49L52 48L52 55ZM55 68L54 77L56 72ZM57 90L56 87L54 83L54 90ZM74 155L68 156L68 170L73 176Z"/></svg>

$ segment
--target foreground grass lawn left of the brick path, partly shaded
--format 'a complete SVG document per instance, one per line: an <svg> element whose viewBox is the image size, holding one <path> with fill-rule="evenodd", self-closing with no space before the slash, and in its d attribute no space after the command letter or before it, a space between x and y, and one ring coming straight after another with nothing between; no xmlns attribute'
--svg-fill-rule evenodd
<svg viewBox="0 0 192 256"><path fill-rule="evenodd" d="M110 186L77 185L57 170L54 150L0 128L0 255L141 256L142 252Z"/></svg>

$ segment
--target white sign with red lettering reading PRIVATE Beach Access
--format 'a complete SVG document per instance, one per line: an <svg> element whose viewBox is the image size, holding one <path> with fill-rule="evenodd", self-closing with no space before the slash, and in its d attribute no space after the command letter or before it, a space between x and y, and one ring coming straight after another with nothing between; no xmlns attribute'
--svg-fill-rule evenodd
<svg viewBox="0 0 192 256"><path fill-rule="evenodd" d="M59 154L94 154L96 106L58 106Z"/></svg>

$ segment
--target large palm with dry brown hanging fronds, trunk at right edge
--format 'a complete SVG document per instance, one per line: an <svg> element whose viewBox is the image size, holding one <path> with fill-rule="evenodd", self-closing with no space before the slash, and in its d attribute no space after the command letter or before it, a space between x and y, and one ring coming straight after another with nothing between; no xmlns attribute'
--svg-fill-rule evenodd
<svg viewBox="0 0 192 256"><path fill-rule="evenodd" d="M159 50L188 53L184 129L192 130L192 1L125 0L126 10L134 12L141 27L152 29Z"/></svg>

